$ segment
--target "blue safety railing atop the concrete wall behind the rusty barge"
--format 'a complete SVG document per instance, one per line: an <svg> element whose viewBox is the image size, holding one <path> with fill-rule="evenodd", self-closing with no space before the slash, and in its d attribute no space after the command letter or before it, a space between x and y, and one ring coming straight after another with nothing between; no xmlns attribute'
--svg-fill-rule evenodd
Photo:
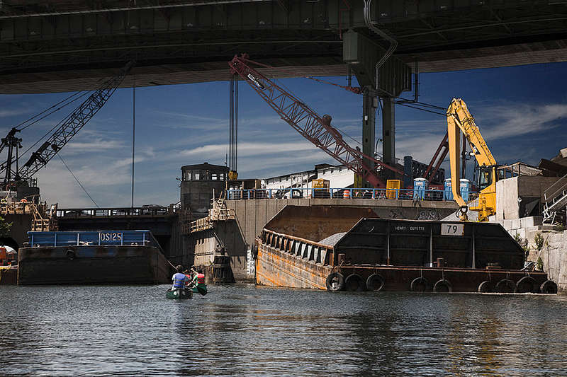
<svg viewBox="0 0 567 377"><path fill-rule="evenodd" d="M466 202L471 200L476 192L462 192ZM254 189L228 190L228 200L243 199L406 199L427 200L434 202L453 201L453 195L444 190L418 189L355 189L355 188L287 188L287 189Z"/></svg>

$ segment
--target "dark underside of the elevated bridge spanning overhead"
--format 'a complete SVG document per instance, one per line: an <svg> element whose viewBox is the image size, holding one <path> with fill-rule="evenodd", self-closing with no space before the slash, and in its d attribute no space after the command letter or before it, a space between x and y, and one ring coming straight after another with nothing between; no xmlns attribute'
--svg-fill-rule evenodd
<svg viewBox="0 0 567 377"><path fill-rule="evenodd" d="M98 86L130 59L122 86L228 80L248 52L276 77L347 74L342 36L364 23L354 0L0 1L0 93ZM567 4L521 0L374 0L371 19L421 72L567 60Z"/></svg>

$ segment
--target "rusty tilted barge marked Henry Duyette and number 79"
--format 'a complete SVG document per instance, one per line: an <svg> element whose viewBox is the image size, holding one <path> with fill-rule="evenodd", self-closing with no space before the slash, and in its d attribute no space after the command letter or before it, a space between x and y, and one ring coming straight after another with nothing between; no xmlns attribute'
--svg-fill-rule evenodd
<svg viewBox="0 0 567 377"><path fill-rule="evenodd" d="M554 294L500 224L378 219L371 209L293 207L256 245L257 284L330 291Z"/></svg>

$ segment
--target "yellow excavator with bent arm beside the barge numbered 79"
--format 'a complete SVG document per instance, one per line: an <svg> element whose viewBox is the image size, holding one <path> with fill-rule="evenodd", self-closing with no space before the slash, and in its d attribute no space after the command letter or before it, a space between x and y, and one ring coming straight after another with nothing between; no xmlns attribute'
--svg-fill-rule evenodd
<svg viewBox="0 0 567 377"><path fill-rule="evenodd" d="M471 207L472 211L478 211L478 221L488 221L488 216L496 213L496 181L498 180L498 166L496 160L490 153L478 126L466 103L461 98L453 98L451 105L447 108L447 134L449 141L449 161L451 163L451 190L453 198L461 207L459 217L461 221L467 221L468 206L461 197L461 132L471 145L472 153L478 162L478 205Z"/></svg>

